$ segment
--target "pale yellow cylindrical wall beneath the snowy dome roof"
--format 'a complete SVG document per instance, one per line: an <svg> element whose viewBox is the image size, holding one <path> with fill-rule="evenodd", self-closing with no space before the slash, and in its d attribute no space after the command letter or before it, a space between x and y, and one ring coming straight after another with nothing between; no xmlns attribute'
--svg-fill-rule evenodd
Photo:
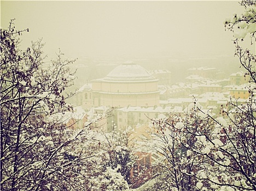
<svg viewBox="0 0 256 191"><path fill-rule="evenodd" d="M120 82L99 79L91 82L94 106L159 106L158 80Z"/></svg>

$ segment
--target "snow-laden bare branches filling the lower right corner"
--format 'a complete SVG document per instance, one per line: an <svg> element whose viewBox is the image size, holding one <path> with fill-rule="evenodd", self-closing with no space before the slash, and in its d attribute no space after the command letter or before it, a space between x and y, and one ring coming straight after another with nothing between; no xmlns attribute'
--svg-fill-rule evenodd
<svg viewBox="0 0 256 191"><path fill-rule="evenodd" d="M184 116L170 114L155 121L150 142L159 158L152 188L255 190L255 126L252 115L248 116L252 110L243 108L245 114L236 114L234 108L230 111L236 120L226 117L228 123L211 115L202 117L196 104Z"/></svg>

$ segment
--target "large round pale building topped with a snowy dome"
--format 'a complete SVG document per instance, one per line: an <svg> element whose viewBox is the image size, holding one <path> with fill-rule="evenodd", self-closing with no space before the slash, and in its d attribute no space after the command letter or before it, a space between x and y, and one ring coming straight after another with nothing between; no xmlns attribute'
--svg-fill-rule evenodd
<svg viewBox="0 0 256 191"><path fill-rule="evenodd" d="M91 83L93 106L159 105L158 80L133 62L125 62Z"/></svg>

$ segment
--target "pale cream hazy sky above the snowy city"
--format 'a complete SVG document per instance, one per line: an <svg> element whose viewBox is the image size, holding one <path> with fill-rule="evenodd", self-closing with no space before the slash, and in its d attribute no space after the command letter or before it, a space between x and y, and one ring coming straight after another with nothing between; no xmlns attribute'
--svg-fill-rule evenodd
<svg viewBox="0 0 256 191"><path fill-rule="evenodd" d="M15 18L30 28L23 43L43 37L49 56L232 55L223 22L242 11L237 1L1 1L1 26Z"/></svg>

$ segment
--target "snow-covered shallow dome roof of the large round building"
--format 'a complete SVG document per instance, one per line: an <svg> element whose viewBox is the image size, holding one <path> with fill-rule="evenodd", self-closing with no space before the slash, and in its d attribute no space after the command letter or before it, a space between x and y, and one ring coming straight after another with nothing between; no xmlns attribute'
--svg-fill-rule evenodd
<svg viewBox="0 0 256 191"><path fill-rule="evenodd" d="M110 73L106 77L104 77L104 80L144 81L155 80L155 77L151 75L146 69L141 67L141 65L138 65L131 61L127 61L110 71Z"/></svg>

